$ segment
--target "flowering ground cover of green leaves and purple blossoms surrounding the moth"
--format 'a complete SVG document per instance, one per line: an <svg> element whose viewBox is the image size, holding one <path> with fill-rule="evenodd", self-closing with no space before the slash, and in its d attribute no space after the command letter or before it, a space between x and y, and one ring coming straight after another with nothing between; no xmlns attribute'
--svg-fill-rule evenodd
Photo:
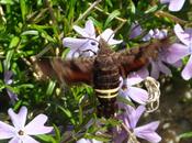
<svg viewBox="0 0 192 143"><path fill-rule="evenodd" d="M191 0L0 0L0 142L191 142ZM162 43L121 78L124 112L110 119L97 116L93 86L60 84L36 64L91 58L101 36L116 52Z"/></svg>

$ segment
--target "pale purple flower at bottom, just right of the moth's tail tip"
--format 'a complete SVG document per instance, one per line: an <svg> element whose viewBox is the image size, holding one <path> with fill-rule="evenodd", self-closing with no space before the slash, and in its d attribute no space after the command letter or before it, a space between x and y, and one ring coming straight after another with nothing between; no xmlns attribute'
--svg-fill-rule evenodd
<svg viewBox="0 0 192 143"><path fill-rule="evenodd" d="M154 121L148 124L137 127L137 122L146 108L144 106L139 106L137 109L134 109L131 106L126 106L125 113L120 117L123 120L126 128L137 138L147 140L150 143L159 143L161 138L155 132L159 125L159 121ZM123 142L127 139L127 131L122 130L115 139L115 143Z"/></svg>

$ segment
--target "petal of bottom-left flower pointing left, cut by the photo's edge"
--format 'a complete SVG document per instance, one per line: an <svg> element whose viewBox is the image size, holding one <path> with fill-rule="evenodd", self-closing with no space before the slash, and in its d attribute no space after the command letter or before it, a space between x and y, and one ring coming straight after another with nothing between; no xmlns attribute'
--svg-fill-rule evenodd
<svg viewBox="0 0 192 143"><path fill-rule="evenodd" d="M15 136L15 129L0 121L0 140Z"/></svg>

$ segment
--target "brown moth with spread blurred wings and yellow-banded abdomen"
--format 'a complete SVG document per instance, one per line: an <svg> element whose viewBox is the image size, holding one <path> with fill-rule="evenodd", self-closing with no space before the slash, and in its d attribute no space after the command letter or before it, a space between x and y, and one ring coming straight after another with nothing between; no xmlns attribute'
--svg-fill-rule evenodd
<svg viewBox="0 0 192 143"><path fill-rule="evenodd" d="M165 45L167 38L114 52L100 38L95 56L72 59L42 58L37 61L37 65L46 76L56 77L60 82L91 85L100 102L98 116L110 118L114 116L117 107L115 102L120 90L120 77L126 78L129 73L147 65L149 58L157 57L158 51Z"/></svg>

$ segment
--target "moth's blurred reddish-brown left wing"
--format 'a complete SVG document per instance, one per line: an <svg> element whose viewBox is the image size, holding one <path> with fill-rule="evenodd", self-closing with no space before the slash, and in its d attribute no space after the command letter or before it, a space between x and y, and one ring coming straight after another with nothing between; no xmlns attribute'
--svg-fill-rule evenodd
<svg viewBox="0 0 192 143"><path fill-rule="evenodd" d="M92 69L94 58L42 58L37 61L37 65L46 76L56 78L60 82L78 84L92 82Z"/></svg>

